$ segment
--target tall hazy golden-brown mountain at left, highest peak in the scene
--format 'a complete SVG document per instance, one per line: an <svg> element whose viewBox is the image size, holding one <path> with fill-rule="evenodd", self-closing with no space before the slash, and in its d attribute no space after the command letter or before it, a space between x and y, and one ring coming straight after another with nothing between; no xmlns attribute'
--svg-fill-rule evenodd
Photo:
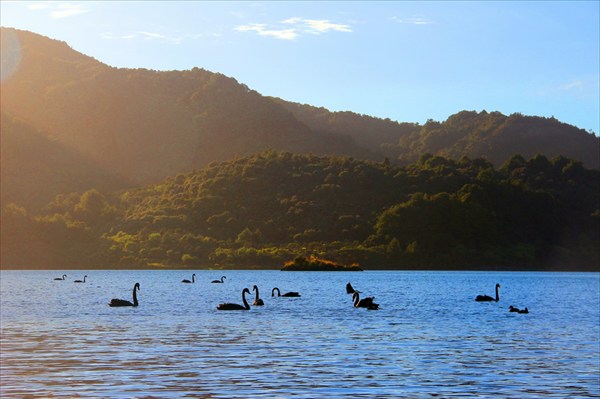
<svg viewBox="0 0 600 399"><path fill-rule="evenodd" d="M2 40L3 59L20 44L19 67L2 82L2 111L129 179L157 181L267 148L369 157L349 137L313 132L218 73L112 68L6 28Z"/></svg>

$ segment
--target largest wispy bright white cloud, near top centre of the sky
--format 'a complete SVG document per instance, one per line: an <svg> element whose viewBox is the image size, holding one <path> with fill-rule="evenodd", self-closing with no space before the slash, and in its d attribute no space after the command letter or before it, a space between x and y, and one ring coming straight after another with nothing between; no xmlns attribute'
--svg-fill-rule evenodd
<svg viewBox="0 0 600 399"><path fill-rule="evenodd" d="M235 27L234 30L238 32L255 32L260 36L282 40L294 40L302 34L320 35L330 31L352 32L350 25L332 23L327 19L292 17L281 21L280 24L279 26L268 26L267 24L240 25Z"/></svg>

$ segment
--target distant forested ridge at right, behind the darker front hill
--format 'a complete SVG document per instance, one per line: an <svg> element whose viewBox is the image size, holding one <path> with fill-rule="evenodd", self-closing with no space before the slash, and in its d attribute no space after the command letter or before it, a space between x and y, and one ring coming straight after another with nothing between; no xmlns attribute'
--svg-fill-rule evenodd
<svg viewBox="0 0 600 399"><path fill-rule="evenodd" d="M588 168L600 168L600 138L554 118L461 111L445 121L429 120L420 125L274 101L311 128L349 135L358 144L400 164L433 154L452 159L486 158L499 167L514 154L526 158L543 154L549 158L562 155Z"/></svg>

